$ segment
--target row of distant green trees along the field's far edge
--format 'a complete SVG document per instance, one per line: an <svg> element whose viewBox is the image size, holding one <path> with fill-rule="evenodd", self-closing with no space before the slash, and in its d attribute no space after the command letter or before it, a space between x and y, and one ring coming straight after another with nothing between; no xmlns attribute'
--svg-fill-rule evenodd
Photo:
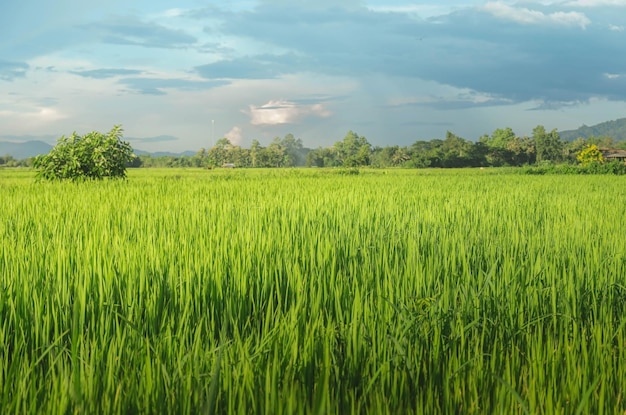
<svg viewBox="0 0 626 415"><path fill-rule="evenodd" d="M611 137L561 139L556 129L547 131L538 125L531 136L518 136L511 128L496 129L476 142L452 132L445 139L416 141L409 146L373 146L367 138L348 131L341 141L329 147L305 148L293 134L275 137L267 146L253 140L250 148L233 145L222 138L209 149L193 156L142 155L131 167L500 167L542 163L576 163L576 156L586 147L626 149L625 141Z"/></svg>

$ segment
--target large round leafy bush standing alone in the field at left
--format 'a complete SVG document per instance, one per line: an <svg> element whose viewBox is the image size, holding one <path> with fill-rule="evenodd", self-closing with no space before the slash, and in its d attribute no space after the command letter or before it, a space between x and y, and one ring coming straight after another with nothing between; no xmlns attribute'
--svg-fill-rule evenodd
<svg viewBox="0 0 626 415"><path fill-rule="evenodd" d="M61 137L50 153L37 156L33 166L37 176L48 180L125 178L126 166L135 159L129 143L122 141L122 127L107 134L76 132Z"/></svg>

